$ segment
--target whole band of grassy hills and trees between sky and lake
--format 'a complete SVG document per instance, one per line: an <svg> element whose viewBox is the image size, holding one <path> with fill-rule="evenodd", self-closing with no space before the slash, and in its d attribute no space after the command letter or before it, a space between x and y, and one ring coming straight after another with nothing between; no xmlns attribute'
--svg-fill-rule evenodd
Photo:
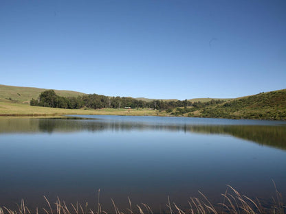
<svg viewBox="0 0 286 214"><path fill-rule="evenodd" d="M226 119L286 119L286 89L235 99L146 99L108 97L0 85L2 117L62 115L138 115Z"/></svg>

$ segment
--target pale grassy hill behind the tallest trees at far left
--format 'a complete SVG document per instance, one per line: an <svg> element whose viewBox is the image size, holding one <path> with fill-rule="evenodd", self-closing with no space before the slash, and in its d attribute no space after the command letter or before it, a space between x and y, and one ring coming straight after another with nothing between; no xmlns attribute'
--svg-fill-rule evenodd
<svg viewBox="0 0 286 214"><path fill-rule="evenodd" d="M0 99L9 99L15 102L29 103L32 98L37 99L45 88L5 86L0 84ZM84 93L76 91L54 90L57 95L63 97L78 97Z"/></svg>

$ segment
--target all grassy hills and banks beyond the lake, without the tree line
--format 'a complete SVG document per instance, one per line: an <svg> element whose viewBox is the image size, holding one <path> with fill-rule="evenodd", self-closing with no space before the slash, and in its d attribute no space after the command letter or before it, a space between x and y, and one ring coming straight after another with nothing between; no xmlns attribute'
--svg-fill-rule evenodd
<svg viewBox="0 0 286 214"><path fill-rule="evenodd" d="M30 106L30 99L36 99L39 94L47 89L19 86L5 86L0 84L0 115L63 115L63 114L107 114L107 115L157 115L157 116L184 116L184 117L212 117L228 119L269 119L286 120L286 89L259 93L248 97L236 99L221 99L225 102L212 104L212 98L190 99L191 102L203 103L199 107L187 109L175 108L171 112L166 110L143 112L119 112L119 110L64 110L58 108L42 108ZM84 95L76 91L54 90L63 97L78 97ZM137 98L144 101L153 99ZM170 101L171 99L164 99ZM176 100L176 99L174 99ZM207 103L208 102L208 103Z"/></svg>

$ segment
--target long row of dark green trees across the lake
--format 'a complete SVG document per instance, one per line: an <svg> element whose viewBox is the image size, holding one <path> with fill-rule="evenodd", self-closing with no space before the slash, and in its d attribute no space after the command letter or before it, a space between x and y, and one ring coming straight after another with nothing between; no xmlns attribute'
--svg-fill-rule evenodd
<svg viewBox="0 0 286 214"><path fill-rule="evenodd" d="M31 106L44 106L50 108L153 108L157 110L171 110L173 108L193 106L203 108L223 101L212 99L210 102L190 102L185 100L163 101L159 99L146 102L132 97L108 97L104 95L89 94L78 97L62 97L56 95L54 90L43 91L38 99L31 99Z"/></svg>

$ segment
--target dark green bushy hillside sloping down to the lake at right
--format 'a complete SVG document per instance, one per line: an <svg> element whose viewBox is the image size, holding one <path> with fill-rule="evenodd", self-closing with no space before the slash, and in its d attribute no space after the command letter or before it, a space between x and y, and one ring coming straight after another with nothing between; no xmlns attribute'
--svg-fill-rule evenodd
<svg viewBox="0 0 286 214"><path fill-rule="evenodd" d="M229 119L286 119L286 89L240 97L199 109L199 117Z"/></svg>

